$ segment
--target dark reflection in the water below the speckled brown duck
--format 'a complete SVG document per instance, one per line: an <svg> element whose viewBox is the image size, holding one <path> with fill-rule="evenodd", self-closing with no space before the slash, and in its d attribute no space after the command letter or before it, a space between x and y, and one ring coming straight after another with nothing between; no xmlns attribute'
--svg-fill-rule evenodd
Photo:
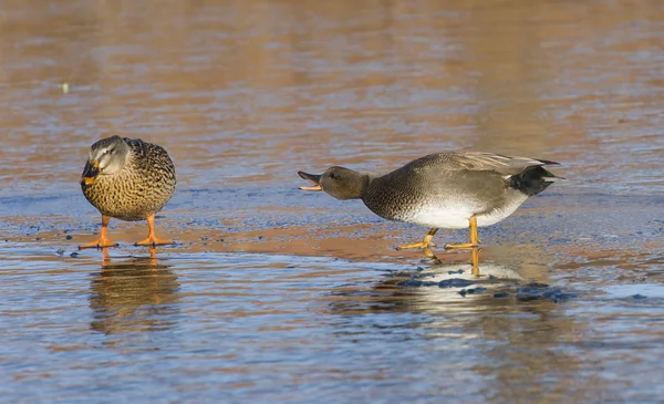
<svg viewBox="0 0 664 404"><path fill-rule="evenodd" d="M168 266L151 258L112 262L104 249L102 270L93 274L91 328L105 334L158 331L175 325L179 283Z"/></svg>

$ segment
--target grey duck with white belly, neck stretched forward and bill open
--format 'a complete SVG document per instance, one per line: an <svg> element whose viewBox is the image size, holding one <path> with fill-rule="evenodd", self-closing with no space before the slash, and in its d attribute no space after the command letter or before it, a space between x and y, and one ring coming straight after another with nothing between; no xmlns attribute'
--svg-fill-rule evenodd
<svg viewBox="0 0 664 404"><path fill-rule="evenodd" d="M470 227L470 242L445 248L475 248L477 227L507 218L528 197L560 177L544 166L556 162L492 153L437 153L417 158L383 176L344 167L322 175L299 172L310 180L304 190L324 190L336 199L362 199L374 214L396 221L430 227L422 242L400 248L428 248L438 228Z"/></svg>

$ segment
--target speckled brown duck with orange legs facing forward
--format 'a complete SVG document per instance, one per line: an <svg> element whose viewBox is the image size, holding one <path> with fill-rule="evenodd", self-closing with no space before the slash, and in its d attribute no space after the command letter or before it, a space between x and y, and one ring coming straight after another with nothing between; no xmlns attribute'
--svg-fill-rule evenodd
<svg viewBox="0 0 664 404"><path fill-rule="evenodd" d="M81 188L87 201L102 214L102 231L96 241L79 248L114 247L106 237L110 218L147 219L149 234L137 246L173 244L155 235L155 214L175 191L175 167L168 153L157 145L127 137L112 136L90 147Z"/></svg>

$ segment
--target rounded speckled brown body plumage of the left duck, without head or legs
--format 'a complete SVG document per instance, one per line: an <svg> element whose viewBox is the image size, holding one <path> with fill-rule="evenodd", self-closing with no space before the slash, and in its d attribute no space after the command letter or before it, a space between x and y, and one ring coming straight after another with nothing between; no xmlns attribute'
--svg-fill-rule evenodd
<svg viewBox="0 0 664 404"><path fill-rule="evenodd" d="M101 139L93 151L120 141ZM175 167L168 153L155 144L124 137L128 153L122 169L98 175L93 184L81 182L85 198L104 216L121 220L144 220L162 210L175 191Z"/></svg>

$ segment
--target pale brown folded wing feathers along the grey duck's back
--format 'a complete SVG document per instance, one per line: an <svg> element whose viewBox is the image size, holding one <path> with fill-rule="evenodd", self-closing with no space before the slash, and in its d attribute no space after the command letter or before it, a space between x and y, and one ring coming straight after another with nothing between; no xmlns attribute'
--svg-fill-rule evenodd
<svg viewBox="0 0 664 404"><path fill-rule="evenodd" d="M504 176L517 175L532 167L559 165L559 163L546 159L509 157L483 152L455 153L448 155L448 169L454 167L473 172L496 172Z"/></svg>

